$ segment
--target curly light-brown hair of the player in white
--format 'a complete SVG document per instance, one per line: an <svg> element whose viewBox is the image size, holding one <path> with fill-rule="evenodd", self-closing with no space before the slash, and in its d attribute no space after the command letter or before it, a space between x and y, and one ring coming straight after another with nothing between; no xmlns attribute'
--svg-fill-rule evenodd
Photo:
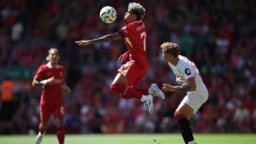
<svg viewBox="0 0 256 144"><path fill-rule="evenodd" d="M177 58L180 55L180 48L179 45L176 43L163 43L160 45L161 49L163 49L163 52L166 52L168 54L172 54L175 58Z"/></svg>

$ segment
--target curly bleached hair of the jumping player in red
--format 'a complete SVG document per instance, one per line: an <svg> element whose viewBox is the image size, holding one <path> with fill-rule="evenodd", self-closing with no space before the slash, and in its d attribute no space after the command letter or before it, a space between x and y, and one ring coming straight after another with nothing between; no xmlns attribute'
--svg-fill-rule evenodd
<svg viewBox="0 0 256 144"><path fill-rule="evenodd" d="M139 3L129 3L128 9L137 16L137 20L142 20L145 16L146 9Z"/></svg>

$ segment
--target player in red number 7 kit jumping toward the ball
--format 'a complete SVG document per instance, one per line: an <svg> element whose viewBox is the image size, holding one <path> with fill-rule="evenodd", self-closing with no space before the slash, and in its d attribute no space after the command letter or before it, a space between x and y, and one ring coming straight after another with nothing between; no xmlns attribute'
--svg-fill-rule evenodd
<svg viewBox="0 0 256 144"><path fill-rule="evenodd" d="M111 88L121 94L122 98L140 99L148 108L148 113L152 115L154 109L153 96L164 98L164 95L156 84L152 84L150 88L137 88L143 77L148 73L146 56L148 33L142 21L145 11L139 3L129 3L124 16L124 20L127 22L126 26L121 27L116 33L88 41L75 41L75 43L79 46L86 46L124 39L127 52L119 57L118 62L124 62L128 55L130 60L117 70L118 73L112 82Z"/></svg>

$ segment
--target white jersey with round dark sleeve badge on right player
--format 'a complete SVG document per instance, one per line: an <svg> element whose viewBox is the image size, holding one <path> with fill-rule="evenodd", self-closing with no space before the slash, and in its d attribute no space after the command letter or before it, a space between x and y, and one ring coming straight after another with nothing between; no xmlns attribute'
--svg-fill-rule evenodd
<svg viewBox="0 0 256 144"><path fill-rule="evenodd" d="M195 78L196 91L188 92L188 94L198 92L201 90L207 90L205 84L202 81L198 68L196 67L194 62L191 62L190 60L188 60L188 58L179 55L179 61L177 65L169 63L169 66L171 67L171 70L173 71L176 77L182 77L182 79L184 80L182 85L188 84L186 80L190 77Z"/></svg>

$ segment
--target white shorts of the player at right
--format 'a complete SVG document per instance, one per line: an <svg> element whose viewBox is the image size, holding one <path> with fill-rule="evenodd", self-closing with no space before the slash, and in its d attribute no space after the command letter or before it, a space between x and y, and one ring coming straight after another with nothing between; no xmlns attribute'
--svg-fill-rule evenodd
<svg viewBox="0 0 256 144"><path fill-rule="evenodd" d="M188 94L183 98L181 103L186 103L193 109L193 113L196 114L198 109L207 101L208 99L207 90L197 90L196 92L188 92Z"/></svg>

